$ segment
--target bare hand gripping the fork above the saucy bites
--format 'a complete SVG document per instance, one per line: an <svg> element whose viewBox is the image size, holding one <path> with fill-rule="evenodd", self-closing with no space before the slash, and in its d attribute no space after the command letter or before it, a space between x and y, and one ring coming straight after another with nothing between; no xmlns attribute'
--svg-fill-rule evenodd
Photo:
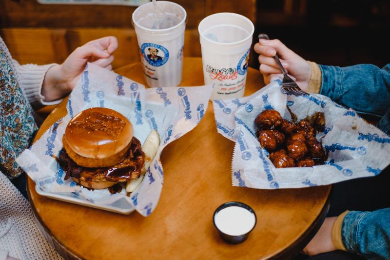
<svg viewBox="0 0 390 260"><path fill-rule="evenodd" d="M298 86L303 91L306 91L312 73L312 67L309 62L287 48L280 40L260 39L254 45L254 51L260 54L260 72L263 74L264 83L270 83L275 77L283 78L282 71L273 59L273 56L277 53L289 76L292 76L292 79L295 80Z"/></svg>

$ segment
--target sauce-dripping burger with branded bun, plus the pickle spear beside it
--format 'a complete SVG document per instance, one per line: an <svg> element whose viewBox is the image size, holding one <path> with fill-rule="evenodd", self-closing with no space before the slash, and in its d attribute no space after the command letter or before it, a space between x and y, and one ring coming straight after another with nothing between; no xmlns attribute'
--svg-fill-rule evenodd
<svg viewBox="0 0 390 260"><path fill-rule="evenodd" d="M64 179L89 189L123 183L127 192L134 191L156 155L159 136L153 130L141 146L133 134L132 123L115 110L81 111L69 121L62 138L59 164Z"/></svg>

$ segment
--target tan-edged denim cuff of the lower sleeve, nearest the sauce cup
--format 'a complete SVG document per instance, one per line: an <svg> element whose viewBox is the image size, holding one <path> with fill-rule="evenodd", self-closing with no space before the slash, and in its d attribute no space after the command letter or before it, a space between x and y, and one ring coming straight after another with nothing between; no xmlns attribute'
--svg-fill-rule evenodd
<svg viewBox="0 0 390 260"><path fill-rule="evenodd" d="M370 212L350 211L345 215L341 227L341 237L347 251L358 254L359 250L359 226L361 220Z"/></svg>

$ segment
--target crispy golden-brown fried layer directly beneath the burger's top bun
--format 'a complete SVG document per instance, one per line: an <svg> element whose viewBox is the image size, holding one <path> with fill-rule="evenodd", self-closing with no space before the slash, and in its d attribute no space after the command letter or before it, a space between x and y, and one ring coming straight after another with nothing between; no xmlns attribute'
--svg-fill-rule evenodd
<svg viewBox="0 0 390 260"><path fill-rule="evenodd" d="M130 148L131 141L129 144L121 151L119 151L117 154L112 155L107 158L87 158L83 157L81 155L78 155L76 152L70 148L69 144L66 142L65 135L62 137L62 143L66 150L66 153L69 155L69 157L74 160L78 165L89 167L89 168L95 168L95 167L109 167L114 164L119 163L123 159L125 159L127 151ZM84 186L84 185L83 185ZM88 186L86 186L88 187ZM95 188L94 188L95 189ZM96 188L97 189L97 188Z"/></svg>

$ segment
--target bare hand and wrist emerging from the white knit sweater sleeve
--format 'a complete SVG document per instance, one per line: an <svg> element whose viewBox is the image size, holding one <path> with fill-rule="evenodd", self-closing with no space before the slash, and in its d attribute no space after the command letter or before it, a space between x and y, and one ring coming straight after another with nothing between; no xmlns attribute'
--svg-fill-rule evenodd
<svg viewBox="0 0 390 260"><path fill-rule="evenodd" d="M41 94L45 101L58 100L72 91L88 61L112 70L113 52L118 47L114 36L92 40L74 50L61 64L47 70Z"/></svg>

